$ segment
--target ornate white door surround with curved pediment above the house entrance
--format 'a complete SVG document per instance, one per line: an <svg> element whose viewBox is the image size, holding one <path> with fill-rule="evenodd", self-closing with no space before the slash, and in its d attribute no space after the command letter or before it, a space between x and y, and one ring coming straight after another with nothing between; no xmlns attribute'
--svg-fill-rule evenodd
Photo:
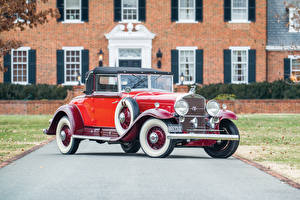
<svg viewBox="0 0 300 200"><path fill-rule="evenodd" d="M105 34L105 37L108 40L110 67L119 66L120 48L140 48L142 50L142 68L151 68L152 40L155 34L144 25L138 24L134 27L132 23L128 23L127 31L125 31L124 24L117 24L111 32Z"/></svg>

